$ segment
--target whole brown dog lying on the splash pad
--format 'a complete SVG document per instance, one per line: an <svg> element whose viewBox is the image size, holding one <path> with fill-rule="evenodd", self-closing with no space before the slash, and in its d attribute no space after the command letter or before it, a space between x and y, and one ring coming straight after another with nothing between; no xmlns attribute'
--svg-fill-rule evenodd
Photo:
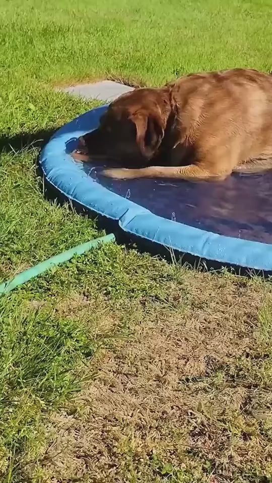
<svg viewBox="0 0 272 483"><path fill-rule="evenodd" d="M232 69L137 89L110 104L79 150L133 167L103 171L118 179L222 180L272 168L272 76Z"/></svg>

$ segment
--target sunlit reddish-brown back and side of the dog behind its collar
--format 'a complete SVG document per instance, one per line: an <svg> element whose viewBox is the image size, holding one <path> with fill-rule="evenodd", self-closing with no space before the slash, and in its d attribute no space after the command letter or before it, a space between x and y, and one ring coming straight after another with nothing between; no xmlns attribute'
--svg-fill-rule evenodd
<svg viewBox="0 0 272 483"><path fill-rule="evenodd" d="M169 88L185 142L209 151L218 138L222 145L235 138L240 163L272 157L271 75L250 69L196 73Z"/></svg>

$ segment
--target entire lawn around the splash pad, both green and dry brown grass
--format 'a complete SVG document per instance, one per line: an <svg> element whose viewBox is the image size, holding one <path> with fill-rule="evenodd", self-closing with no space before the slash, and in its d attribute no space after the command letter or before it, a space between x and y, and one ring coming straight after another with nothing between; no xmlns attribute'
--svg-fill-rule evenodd
<svg viewBox="0 0 272 483"><path fill-rule="evenodd" d="M272 70L272 0L0 0L0 283L101 235L39 148L97 105L53 90ZM4 483L268 483L272 285L110 244L0 297Z"/></svg>

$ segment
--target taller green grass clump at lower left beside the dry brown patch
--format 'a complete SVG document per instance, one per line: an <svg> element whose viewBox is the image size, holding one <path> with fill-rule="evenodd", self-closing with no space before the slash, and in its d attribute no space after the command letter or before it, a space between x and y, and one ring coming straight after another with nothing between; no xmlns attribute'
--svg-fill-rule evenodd
<svg viewBox="0 0 272 483"><path fill-rule="evenodd" d="M18 296L1 298L0 331L0 473L5 473L7 456L39 438L42 411L77 389L80 378L73 369L94 345L76 321L54 310L24 310Z"/></svg>

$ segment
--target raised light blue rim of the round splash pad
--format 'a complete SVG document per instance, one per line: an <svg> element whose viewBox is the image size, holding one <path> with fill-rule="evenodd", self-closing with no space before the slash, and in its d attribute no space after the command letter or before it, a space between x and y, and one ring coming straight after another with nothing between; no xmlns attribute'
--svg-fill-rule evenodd
<svg viewBox="0 0 272 483"><path fill-rule="evenodd" d="M155 215L89 176L70 153L79 136L98 126L106 108L107 105L86 112L65 124L51 137L39 159L49 184L85 209L116 220L119 227L131 235L223 265L272 270L272 245L205 231Z"/></svg>

